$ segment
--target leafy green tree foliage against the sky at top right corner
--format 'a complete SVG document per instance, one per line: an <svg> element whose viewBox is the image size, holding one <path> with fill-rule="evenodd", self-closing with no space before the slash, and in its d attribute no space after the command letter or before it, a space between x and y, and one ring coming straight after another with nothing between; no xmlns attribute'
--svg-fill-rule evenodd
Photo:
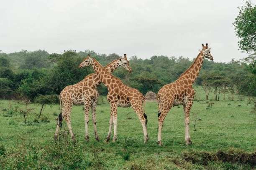
<svg viewBox="0 0 256 170"><path fill-rule="evenodd" d="M245 6L238 7L239 14L233 25L235 26L239 48L245 52L256 51L256 6L246 1Z"/></svg>

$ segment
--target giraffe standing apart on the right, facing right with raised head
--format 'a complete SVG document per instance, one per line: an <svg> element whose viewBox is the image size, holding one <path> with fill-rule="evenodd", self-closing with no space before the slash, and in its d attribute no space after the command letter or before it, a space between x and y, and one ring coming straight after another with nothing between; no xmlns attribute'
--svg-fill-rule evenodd
<svg viewBox="0 0 256 170"><path fill-rule="evenodd" d="M184 72L180 77L173 83L164 85L161 87L157 94L158 100L158 143L161 146L161 130L163 126L164 119L172 108L172 106L183 105L184 118L185 118L185 141L187 145L190 145L191 139L189 135L189 112L193 104L193 99L195 97L195 91L192 84L195 82L199 71L202 67L202 63L205 58L213 60L210 54L210 49L208 44L204 46L202 44L202 50L197 55L195 61L192 65Z"/></svg>

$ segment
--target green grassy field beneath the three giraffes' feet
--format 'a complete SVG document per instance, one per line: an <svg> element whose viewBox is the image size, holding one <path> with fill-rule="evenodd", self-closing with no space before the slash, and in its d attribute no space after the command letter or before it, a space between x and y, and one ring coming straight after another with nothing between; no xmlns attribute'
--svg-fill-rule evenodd
<svg viewBox="0 0 256 170"><path fill-rule="evenodd" d="M204 99L198 88L198 98ZM230 104L230 105L229 105ZM241 105L241 106L238 106ZM163 146L157 141L157 103L146 103L149 141L143 143L141 124L132 108L118 108L118 140L105 143L110 107L97 106L96 142L92 121L90 142L84 140L82 106L72 110L72 129L77 143L63 133L54 142L59 105L46 106L43 119L36 117L40 105L28 115L25 125L17 108L21 101L0 100L0 169L109 169L109 170L172 170L172 169L253 169L256 163L256 115L254 104L244 101L194 101L190 116L192 145L184 143L184 113L173 107L162 131ZM91 118L91 117L90 117ZM194 122L196 121L196 130ZM62 131L67 130L66 122ZM113 135L113 133L112 133Z"/></svg>

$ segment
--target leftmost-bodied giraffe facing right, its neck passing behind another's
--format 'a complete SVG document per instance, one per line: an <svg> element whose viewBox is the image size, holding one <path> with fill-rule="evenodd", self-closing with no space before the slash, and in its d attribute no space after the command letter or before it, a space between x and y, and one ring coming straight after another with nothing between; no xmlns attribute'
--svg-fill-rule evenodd
<svg viewBox="0 0 256 170"><path fill-rule="evenodd" d="M90 55L88 55L89 57ZM120 57L119 59L113 60L104 68L107 72L111 73L118 67L123 67L128 72L131 72L131 67L129 66L129 61L125 57ZM71 128L70 114L72 110L72 105L84 105L84 123L85 123L85 140L89 140L88 135L88 122L89 122L89 110L91 108L92 112L92 122L94 128L95 139L99 141L99 136L96 127L96 105L98 98L97 86L100 85L101 80L97 77L96 73L87 75L84 79L77 84L69 85L65 87L60 95L60 106L62 101L62 110L57 118L57 126L54 134L55 140L58 138L59 128L61 127L62 118L67 122L69 133L73 141L75 141L74 133Z"/></svg>

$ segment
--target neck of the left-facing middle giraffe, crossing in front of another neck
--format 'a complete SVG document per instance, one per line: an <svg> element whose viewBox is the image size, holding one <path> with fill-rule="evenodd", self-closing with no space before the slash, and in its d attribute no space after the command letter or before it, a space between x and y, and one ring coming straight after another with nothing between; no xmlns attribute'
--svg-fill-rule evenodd
<svg viewBox="0 0 256 170"><path fill-rule="evenodd" d="M96 72L97 77L103 82L103 84L109 89L111 81L107 81L107 79L116 79L113 75L107 72L102 65L95 59L93 59L93 70Z"/></svg>

